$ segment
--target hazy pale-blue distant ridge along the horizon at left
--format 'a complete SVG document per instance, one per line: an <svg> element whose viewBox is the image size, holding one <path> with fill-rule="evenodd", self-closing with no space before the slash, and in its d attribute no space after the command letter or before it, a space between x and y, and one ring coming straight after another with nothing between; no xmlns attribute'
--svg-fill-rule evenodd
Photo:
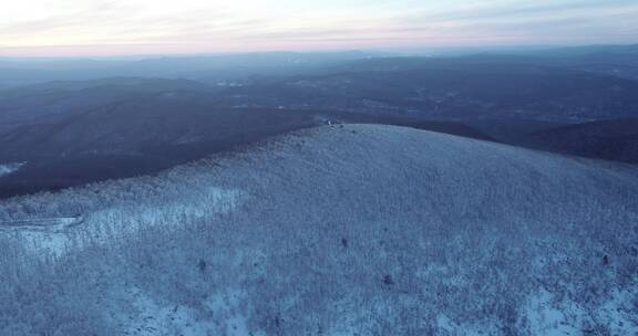
<svg viewBox="0 0 638 336"><path fill-rule="evenodd" d="M329 64L390 53L247 53L193 56L155 56L133 60L0 59L0 88L49 81L89 81L113 76L189 78L208 83L253 76L280 76Z"/></svg>

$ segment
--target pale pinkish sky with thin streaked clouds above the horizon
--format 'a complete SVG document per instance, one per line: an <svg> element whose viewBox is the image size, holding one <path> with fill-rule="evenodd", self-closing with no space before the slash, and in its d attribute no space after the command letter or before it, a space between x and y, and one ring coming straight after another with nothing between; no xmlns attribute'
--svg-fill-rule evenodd
<svg viewBox="0 0 638 336"><path fill-rule="evenodd" d="M0 56L638 42L638 0L1 0Z"/></svg>

